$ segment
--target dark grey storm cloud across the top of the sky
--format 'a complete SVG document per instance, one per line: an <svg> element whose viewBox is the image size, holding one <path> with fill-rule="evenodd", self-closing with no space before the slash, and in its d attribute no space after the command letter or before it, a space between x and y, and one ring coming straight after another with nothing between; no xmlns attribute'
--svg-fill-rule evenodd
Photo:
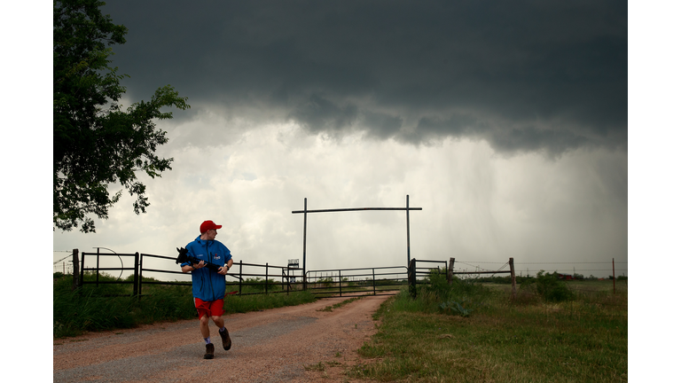
<svg viewBox="0 0 681 383"><path fill-rule="evenodd" d="M503 152L627 146L627 3L112 1L133 99L257 105L311 133ZM251 112L251 118L260 118ZM272 116L272 113L263 113Z"/></svg>

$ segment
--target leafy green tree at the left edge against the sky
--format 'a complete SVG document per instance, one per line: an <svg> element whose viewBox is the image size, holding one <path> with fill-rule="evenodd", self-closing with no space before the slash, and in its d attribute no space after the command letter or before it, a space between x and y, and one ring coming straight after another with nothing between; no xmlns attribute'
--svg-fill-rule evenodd
<svg viewBox="0 0 681 383"><path fill-rule="evenodd" d="M94 232L88 215L108 217L109 207L121 198L121 184L131 196L136 214L149 202L137 172L160 176L171 169L172 158L160 158L156 148L168 142L166 132L153 121L171 119L164 106L185 110L187 98L171 86L155 91L151 101L140 101L126 110L119 105L125 87L112 67L109 45L125 43L128 29L103 15L97 0L54 2L53 14L53 224L70 231L81 226Z"/></svg>

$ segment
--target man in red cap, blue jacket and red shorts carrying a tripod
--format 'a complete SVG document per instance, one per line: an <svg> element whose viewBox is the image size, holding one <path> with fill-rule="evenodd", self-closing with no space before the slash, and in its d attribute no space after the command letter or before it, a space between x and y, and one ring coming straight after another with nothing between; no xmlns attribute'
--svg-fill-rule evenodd
<svg viewBox="0 0 681 383"><path fill-rule="evenodd" d="M215 240L217 229L223 225L217 225L213 221L204 221L200 226L201 235L190 242L187 254L200 260L199 263L184 262L181 264L182 272L192 273L192 295L194 306L199 313L200 330L206 341L206 355L204 359L213 359L215 346L210 341L210 329L208 318L219 329L217 333L223 340L223 348L231 348L230 333L224 328L224 292L225 275L230 270L230 249L220 241ZM210 267L207 267L210 266Z"/></svg>

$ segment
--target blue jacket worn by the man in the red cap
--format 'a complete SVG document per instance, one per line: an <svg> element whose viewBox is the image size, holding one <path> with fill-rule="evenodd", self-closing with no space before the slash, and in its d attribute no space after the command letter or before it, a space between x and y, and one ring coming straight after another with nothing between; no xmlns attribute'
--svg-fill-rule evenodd
<svg viewBox="0 0 681 383"><path fill-rule="evenodd" d="M231 260L231 252L222 242L216 240L201 240L197 237L186 246L188 255L203 262L224 266ZM191 265L184 262L181 266ZM201 301L216 301L224 298L225 277L207 267L192 270L192 295Z"/></svg>

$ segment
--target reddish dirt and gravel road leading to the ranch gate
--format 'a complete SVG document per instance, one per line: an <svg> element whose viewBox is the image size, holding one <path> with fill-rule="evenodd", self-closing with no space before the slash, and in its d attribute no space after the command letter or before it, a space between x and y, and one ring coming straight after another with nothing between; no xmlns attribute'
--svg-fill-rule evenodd
<svg viewBox="0 0 681 383"><path fill-rule="evenodd" d="M199 320L56 339L55 382L352 382L344 371L362 363L357 349L376 332L372 314L388 296L348 298L247 314L225 314L232 347L222 348L211 322L215 359L205 360ZM324 368L319 368L323 366Z"/></svg>

